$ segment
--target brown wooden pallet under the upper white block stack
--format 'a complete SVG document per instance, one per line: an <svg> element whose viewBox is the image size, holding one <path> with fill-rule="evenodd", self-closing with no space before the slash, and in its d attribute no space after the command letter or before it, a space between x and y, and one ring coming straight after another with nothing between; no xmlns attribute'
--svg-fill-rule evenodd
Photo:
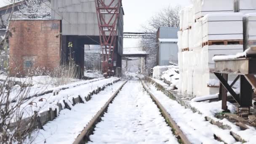
<svg viewBox="0 0 256 144"><path fill-rule="evenodd" d="M243 45L243 40L209 40L204 42L202 46L205 45Z"/></svg>

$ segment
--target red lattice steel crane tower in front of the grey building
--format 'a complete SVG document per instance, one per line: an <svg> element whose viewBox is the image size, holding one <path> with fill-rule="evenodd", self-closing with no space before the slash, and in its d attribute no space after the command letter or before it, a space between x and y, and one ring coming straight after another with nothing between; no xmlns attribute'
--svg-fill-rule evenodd
<svg viewBox="0 0 256 144"><path fill-rule="evenodd" d="M121 2L122 0L95 0L104 77L114 74L114 51Z"/></svg>

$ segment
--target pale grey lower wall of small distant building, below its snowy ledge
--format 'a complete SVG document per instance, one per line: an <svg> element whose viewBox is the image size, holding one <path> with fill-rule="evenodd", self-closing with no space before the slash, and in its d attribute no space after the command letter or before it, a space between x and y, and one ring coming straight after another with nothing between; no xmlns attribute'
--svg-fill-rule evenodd
<svg viewBox="0 0 256 144"><path fill-rule="evenodd" d="M169 62L178 64L178 45L177 43L160 43L158 65L170 65Z"/></svg>

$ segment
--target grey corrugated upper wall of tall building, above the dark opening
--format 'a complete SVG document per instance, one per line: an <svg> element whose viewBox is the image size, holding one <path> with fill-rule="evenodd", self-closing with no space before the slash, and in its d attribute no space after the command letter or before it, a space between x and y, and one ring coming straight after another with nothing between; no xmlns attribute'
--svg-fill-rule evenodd
<svg viewBox="0 0 256 144"><path fill-rule="evenodd" d="M105 3L110 2L105 0ZM51 7L51 19L62 20L62 35L99 36L95 0L51 0ZM123 14L120 11L117 32L120 55L123 54ZM111 16L105 15L105 19L108 17Z"/></svg>

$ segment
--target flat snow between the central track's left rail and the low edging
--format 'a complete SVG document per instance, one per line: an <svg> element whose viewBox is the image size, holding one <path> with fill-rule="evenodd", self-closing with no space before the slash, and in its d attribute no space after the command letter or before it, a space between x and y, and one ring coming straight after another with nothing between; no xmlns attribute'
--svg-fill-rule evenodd
<svg viewBox="0 0 256 144"><path fill-rule="evenodd" d="M33 133L33 136L36 136L33 143L72 144L83 128L123 83L124 81L120 81L107 87L104 91L93 95L92 99L85 104L76 104L71 110L62 110L59 117L43 126L44 130ZM79 91L87 93L86 88L80 88ZM75 90L70 93L75 93Z"/></svg>

